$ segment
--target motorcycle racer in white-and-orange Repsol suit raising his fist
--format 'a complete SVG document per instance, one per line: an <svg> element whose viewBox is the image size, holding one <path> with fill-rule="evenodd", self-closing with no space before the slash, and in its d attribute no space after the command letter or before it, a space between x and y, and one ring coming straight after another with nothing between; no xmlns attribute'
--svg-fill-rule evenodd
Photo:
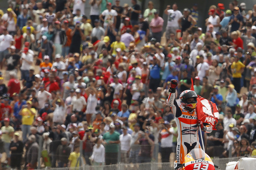
<svg viewBox="0 0 256 170"><path fill-rule="evenodd" d="M169 88L169 97L167 104L171 107L172 113L175 116L175 121L178 127L177 138L177 166L184 162L184 157L194 148L201 148L198 139L198 126L210 133L212 131L212 125L203 123L197 119L196 105L197 95L192 90L185 90L180 94L179 107L175 100L176 87L178 85L177 80L171 80L171 87Z"/></svg>

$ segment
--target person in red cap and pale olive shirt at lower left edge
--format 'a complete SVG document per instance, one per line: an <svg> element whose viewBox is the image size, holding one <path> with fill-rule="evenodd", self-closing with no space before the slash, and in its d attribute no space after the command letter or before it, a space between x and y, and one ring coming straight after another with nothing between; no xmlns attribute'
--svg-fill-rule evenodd
<svg viewBox="0 0 256 170"><path fill-rule="evenodd" d="M14 129L10 126L10 119L4 118L4 126L1 128L2 140L4 141L4 150L7 155L8 164L11 165L10 143L14 134Z"/></svg>

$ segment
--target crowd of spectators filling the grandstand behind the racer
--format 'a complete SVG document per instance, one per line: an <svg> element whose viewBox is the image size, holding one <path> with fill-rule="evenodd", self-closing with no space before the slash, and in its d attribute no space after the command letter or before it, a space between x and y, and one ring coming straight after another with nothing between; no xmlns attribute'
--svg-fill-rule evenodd
<svg viewBox="0 0 256 170"><path fill-rule="evenodd" d="M118 155L158 161L158 151L169 162L178 136L166 105L171 79L178 103L192 78L217 105L217 130L203 134L211 157L256 155L256 4L212 5L204 30L197 4L167 5L164 33L151 1L143 10L137 0L90 0L90 16L85 0L8 3L0 10L0 156L12 168L35 169L40 148L52 167L79 166L81 157L99 166Z"/></svg>

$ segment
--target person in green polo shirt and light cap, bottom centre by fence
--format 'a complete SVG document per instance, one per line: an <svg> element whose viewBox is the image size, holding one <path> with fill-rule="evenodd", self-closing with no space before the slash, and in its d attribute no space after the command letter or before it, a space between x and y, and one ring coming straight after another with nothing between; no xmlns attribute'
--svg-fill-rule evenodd
<svg viewBox="0 0 256 170"><path fill-rule="evenodd" d="M104 145L105 145L105 163L106 165L117 164L118 156L118 144L120 134L115 131L115 125L109 125L109 131L103 135Z"/></svg>

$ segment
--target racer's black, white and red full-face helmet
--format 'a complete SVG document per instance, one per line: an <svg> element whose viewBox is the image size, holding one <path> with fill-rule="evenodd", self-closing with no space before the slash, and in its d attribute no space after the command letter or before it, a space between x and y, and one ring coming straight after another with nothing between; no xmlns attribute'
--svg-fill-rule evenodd
<svg viewBox="0 0 256 170"><path fill-rule="evenodd" d="M194 98L195 101L188 102L187 99L189 98ZM196 108L196 104L197 104L196 98L197 98L197 94L195 91L185 90L180 94L180 103L183 107L194 109Z"/></svg>

